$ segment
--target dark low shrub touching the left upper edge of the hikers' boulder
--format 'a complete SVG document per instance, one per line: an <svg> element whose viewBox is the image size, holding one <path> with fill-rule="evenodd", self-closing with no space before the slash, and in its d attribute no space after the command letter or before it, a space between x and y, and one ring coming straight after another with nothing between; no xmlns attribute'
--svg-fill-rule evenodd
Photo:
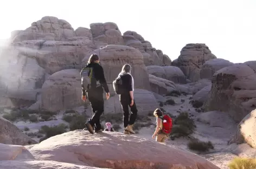
<svg viewBox="0 0 256 169"><path fill-rule="evenodd" d="M49 127L49 126L42 126L39 133L46 134L46 136L42 139L40 139L40 142L48 139L50 137L53 137L55 135L59 135L62 133L65 133L66 131L66 125L65 124L59 124L57 126Z"/></svg>

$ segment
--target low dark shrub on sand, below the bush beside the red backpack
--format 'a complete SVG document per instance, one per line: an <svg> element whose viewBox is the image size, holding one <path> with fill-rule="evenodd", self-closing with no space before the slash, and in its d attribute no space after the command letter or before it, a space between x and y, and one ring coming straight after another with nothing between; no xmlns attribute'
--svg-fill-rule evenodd
<svg viewBox="0 0 256 169"><path fill-rule="evenodd" d="M190 150L205 152L205 151L208 151L209 148L213 149L214 146L213 146L212 142L210 142L210 141L204 142L204 141L200 141L198 139L191 139L188 142L188 148Z"/></svg>

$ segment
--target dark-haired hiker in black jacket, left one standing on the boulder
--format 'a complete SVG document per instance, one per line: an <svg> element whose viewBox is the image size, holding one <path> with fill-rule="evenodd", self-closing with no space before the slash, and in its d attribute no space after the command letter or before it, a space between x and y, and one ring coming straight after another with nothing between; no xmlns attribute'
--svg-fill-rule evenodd
<svg viewBox="0 0 256 169"><path fill-rule="evenodd" d="M81 70L82 77L82 100L86 101L86 93L89 102L92 106L93 116L89 121L86 122L85 126L91 134L102 132L100 125L100 116L104 112L104 99L103 99L103 88L106 92L106 98L110 98L110 91L107 86L107 82L104 76L103 67L99 64L99 56L97 54L92 54L89 57L86 67ZM83 85L84 76L89 76L90 82L87 85L87 90ZM98 82L100 84L98 84Z"/></svg>

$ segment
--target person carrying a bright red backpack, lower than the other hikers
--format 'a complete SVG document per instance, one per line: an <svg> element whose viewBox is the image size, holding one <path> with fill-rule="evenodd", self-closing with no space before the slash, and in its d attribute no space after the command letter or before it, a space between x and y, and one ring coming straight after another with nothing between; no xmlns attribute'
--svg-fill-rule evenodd
<svg viewBox="0 0 256 169"><path fill-rule="evenodd" d="M170 116L164 115L158 108L153 112L153 115L156 117L156 130L152 135L152 139L156 137L157 142L165 142L171 132L172 119Z"/></svg>

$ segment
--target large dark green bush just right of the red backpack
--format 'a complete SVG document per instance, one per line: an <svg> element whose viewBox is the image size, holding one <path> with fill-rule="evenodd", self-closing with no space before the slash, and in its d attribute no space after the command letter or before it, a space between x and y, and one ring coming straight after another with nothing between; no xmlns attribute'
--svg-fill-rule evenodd
<svg viewBox="0 0 256 169"><path fill-rule="evenodd" d="M174 126L172 127L170 134L172 139L186 137L192 134L196 128L194 120L189 118L187 112L180 113L173 123Z"/></svg>

